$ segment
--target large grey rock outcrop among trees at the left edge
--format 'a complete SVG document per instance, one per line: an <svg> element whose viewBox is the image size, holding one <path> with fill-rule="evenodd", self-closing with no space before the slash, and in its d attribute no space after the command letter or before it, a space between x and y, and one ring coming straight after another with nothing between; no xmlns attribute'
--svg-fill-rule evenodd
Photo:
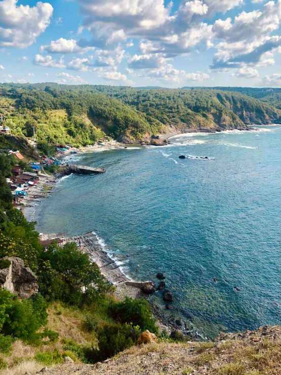
<svg viewBox="0 0 281 375"><path fill-rule="evenodd" d="M37 277L29 267L24 267L23 260L17 257L5 257L11 264L0 269L0 286L12 293L17 293L19 298L29 298L38 293Z"/></svg>

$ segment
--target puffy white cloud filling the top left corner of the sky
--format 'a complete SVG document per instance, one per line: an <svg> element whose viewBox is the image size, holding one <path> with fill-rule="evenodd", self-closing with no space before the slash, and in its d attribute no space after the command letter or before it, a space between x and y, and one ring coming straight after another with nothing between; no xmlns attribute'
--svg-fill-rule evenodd
<svg viewBox="0 0 281 375"><path fill-rule="evenodd" d="M26 48L50 24L53 7L49 3L17 6L17 0L0 2L0 47Z"/></svg>

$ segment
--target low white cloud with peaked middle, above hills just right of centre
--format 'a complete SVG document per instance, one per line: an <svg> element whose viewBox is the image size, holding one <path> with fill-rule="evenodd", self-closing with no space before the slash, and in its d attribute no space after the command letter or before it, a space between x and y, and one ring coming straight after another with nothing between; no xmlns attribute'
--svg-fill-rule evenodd
<svg viewBox="0 0 281 375"><path fill-rule="evenodd" d="M159 69L151 69L148 71L148 75L162 81L173 83L182 81L202 82L204 79L209 78L207 74L201 72L186 73L185 71L179 71L171 64L163 65Z"/></svg>

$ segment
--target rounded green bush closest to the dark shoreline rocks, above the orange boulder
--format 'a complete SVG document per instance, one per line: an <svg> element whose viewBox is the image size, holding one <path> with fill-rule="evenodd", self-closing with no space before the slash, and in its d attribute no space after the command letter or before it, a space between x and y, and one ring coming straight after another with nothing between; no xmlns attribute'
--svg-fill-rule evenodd
<svg viewBox="0 0 281 375"><path fill-rule="evenodd" d="M149 330L158 333L156 319L152 317L152 308L144 298L125 298L124 302L113 302L110 306L110 313L120 323L131 323L139 326L142 331Z"/></svg>

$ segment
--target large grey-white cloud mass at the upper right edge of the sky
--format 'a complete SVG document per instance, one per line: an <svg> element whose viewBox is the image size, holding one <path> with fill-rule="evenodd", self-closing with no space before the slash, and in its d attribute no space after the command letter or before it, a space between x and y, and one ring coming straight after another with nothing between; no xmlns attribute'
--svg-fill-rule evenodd
<svg viewBox="0 0 281 375"><path fill-rule="evenodd" d="M270 37L277 30L281 18L281 1L267 3L263 11L242 12L235 17L217 20L212 28L214 36L222 39L216 48L212 69L238 68L244 64L266 66L274 63L272 53L281 45L281 38Z"/></svg>

